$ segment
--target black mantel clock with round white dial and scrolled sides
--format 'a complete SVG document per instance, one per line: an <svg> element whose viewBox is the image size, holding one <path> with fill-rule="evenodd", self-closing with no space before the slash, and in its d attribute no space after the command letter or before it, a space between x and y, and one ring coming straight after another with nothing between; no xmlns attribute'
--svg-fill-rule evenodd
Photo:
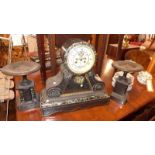
<svg viewBox="0 0 155 155"><path fill-rule="evenodd" d="M92 70L96 59L93 46L72 39L64 43L60 51L60 71L47 79L40 94L43 115L107 103L110 97L104 92L104 82Z"/></svg>

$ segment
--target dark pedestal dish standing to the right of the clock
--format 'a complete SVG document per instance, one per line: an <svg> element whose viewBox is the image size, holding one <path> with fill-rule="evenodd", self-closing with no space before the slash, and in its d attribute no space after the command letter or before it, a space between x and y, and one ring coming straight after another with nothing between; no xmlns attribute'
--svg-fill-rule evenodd
<svg viewBox="0 0 155 155"><path fill-rule="evenodd" d="M123 76L116 78L111 99L124 104L127 101L128 86L131 84L131 79L127 78L127 74L141 71L143 67L131 60L114 61L112 65L117 70L123 71Z"/></svg>

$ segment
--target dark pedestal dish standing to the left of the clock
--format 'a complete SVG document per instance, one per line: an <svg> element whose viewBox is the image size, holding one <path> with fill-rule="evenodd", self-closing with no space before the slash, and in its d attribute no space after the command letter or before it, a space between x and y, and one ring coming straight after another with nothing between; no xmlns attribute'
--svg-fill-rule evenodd
<svg viewBox="0 0 155 155"><path fill-rule="evenodd" d="M40 65L32 61L19 61L4 66L1 71L6 75L22 76L16 89L19 91L17 109L20 111L39 107L39 95L34 90L34 82L27 75L40 69Z"/></svg>

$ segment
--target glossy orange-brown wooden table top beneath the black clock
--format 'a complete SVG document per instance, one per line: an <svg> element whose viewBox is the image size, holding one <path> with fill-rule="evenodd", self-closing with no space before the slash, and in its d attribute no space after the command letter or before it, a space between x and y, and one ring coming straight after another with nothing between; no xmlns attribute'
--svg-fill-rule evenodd
<svg viewBox="0 0 155 155"><path fill-rule="evenodd" d="M103 63L101 78L105 82L105 91L108 94L112 92L112 76L114 69L112 68L113 60L105 59ZM153 79L153 86L155 88L155 78ZM25 112L17 111L17 120L35 121L35 120L59 120L59 121L111 121L120 120L129 114L137 111L149 102L155 99L155 93L148 92L146 87L139 84L135 78L132 90L128 93L128 102L121 105L111 100L108 104L103 106L96 106L92 108L82 109L74 112L66 112L52 115L50 117L43 117L40 109L32 109Z"/></svg>

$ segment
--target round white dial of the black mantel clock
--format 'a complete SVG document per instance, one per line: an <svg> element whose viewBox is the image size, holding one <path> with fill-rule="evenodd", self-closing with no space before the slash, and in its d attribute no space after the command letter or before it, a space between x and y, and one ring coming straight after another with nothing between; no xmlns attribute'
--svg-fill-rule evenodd
<svg viewBox="0 0 155 155"><path fill-rule="evenodd" d="M87 44L77 44L68 52L67 65L75 74L88 72L95 63L95 53Z"/></svg>

